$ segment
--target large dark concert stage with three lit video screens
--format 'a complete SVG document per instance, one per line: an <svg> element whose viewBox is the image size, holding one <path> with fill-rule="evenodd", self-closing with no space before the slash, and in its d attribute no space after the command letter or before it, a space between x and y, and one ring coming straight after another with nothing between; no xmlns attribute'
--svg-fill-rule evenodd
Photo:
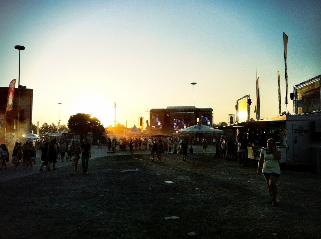
<svg viewBox="0 0 321 239"><path fill-rule="evenodd" d="M210 127L213 125L212 108L195 108L195 117L193 106L168 106L166 109L151 109L149 112L153 134L172 134L197 122Z"/></svg>

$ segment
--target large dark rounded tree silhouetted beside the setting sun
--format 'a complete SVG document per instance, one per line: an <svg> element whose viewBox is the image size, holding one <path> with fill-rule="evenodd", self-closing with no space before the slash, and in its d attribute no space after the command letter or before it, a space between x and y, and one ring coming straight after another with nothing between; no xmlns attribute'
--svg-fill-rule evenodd
<svg viewBox="0 0 321 239"><path fill-rule="evenodd" d="M69 117L68 128L75 134L81 135L81 137L92 133L93 141L101 138L101 135L105 132L104 126L100 120L96 117L90 118L90 114L77 113Z"/></svg>

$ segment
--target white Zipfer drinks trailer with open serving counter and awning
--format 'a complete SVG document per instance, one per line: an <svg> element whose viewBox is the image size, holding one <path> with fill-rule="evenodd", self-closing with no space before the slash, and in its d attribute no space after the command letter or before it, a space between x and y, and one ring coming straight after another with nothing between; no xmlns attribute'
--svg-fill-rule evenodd
<svg viewBox="0 0 321 239"><path fill-rule="evenodd" d="M225 128L225 127L224 127ZM282 115L271 119L239 122L226 126L247 135L248 158L259 160L266 140L274 138L281 150L280 163L314 165L320 161L321 114Z"/></svg>

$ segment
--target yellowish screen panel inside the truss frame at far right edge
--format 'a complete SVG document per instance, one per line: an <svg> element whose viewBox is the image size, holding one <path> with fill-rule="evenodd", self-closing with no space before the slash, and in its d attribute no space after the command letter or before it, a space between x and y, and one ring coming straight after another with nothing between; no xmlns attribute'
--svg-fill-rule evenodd
<svg viewBox="0 0 321 239"><path fill-rule="evenodd" d="M320 80L297 88L296 106L298 114L321 110Z"/></svg>

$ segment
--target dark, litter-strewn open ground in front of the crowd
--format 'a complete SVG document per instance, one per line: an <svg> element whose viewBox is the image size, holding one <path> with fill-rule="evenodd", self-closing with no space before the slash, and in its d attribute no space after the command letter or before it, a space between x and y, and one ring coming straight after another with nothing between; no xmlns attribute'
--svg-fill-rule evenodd
<svg viewBox="0 0 321 239"><path fill-rule="evenodd" d="M320 174L283 169L273 207L257 161L213 156L108 154L88 174L2 181L0 238L321 238Z"/></svg>

